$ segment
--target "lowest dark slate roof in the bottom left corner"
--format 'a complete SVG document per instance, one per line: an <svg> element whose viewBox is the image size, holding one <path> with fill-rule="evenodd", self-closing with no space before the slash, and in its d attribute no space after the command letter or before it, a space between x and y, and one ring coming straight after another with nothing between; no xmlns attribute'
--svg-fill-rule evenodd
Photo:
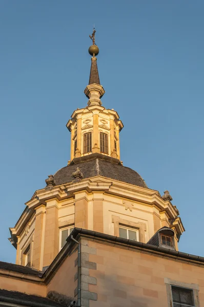
<svg viewBox="0 0 204 307"><path fill-rule="evenodd" d="M17 291L8 291L0 289L0 301L15 303L26 306L55 306L62 307L64 305L59 304L49 298L25 294Z"/></svg>

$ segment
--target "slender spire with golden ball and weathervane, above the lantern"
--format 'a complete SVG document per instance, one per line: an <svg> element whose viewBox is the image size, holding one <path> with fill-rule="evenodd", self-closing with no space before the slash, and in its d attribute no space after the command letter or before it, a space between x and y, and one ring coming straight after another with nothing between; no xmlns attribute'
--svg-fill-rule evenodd
<svg viewBox="0 0 204 307"><path fill-rule="evenodd" d="M95 57L99 53L99 48L95 44L95 33L96 30L93 28L92 35L89 35L93 44L89 47L89 54L91 58L91 71L89 77L89 85L85 89L85 95L89 98L88 105L101 105L100 98L104 95L105 91L102 85L100 85L98 68L97 68L97 58Z"/></svg>

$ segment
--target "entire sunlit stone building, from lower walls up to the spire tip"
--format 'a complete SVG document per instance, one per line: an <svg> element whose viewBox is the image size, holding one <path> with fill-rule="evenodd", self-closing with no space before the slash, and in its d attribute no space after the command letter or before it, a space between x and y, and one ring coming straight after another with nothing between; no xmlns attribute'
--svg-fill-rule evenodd
<svg viewBox="0 0 204 307"><path fill-rule="evenodd" d="M101 102L90 37L88 104L67 123L70 160L10 228L16 262L0 261L0 305L202 306L204 258L178 250L185 229L169 191L120 160L124 125Z"/></svg>

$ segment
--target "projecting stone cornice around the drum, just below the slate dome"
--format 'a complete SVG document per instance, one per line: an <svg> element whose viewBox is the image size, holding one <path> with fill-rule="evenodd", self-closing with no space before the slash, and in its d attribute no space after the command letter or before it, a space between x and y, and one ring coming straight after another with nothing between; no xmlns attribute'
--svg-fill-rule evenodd
<svg viewBox="0 0 204 307"><path fill-rule="evenodd" d="M92 191L103 191L108 194L119 196L123 199L140 202L144 205L156 206L159 211L164 211L168 214L169 218L173 221L172 225L177 228L179 227L179 233L184 231L180 217L177 217L175 208L171 202L162 200L158 191L97 176L83 179L79 182L72 182L67 185L56 186L51 190L37 190L35 192L35 198L26 203L27 208L24 210L15 227L10 228L12 234L18 235L21 233L22 228L26 223L28 223L34 213L34 209L39 205L46 206L47 201L51 199L63 201L68 198L73 198L75 192L83 190L86 190L88 193ZM179 226L176 226L177 224L179 224Z"/></svg>

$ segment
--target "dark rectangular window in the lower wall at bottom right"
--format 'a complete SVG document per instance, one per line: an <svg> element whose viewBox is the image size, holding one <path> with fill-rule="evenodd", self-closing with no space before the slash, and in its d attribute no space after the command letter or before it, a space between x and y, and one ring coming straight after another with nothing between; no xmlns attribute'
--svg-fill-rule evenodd
<svg viewBox="0 0 204 307"><path fill-rule="evenodd" d="M195 306L192 289L171 286L171 291L172 291L173 307Z"/></svg>

